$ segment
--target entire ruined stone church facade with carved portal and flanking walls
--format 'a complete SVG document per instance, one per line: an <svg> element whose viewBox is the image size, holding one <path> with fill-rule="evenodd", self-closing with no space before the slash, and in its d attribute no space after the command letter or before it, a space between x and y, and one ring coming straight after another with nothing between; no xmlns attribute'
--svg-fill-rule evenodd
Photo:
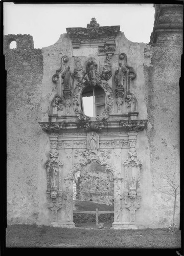
<svg viewBox="0 0 184 256"><path fill-rule="evenodd" d="M149 45L95 18L66 32L41 50L30 35L4 37L8 224L74 227L74 175L98 165L113 182L113 228L170 225L160 188L179 168L182 6L155 5ZM87 88L104 93L94 117ZM179 196L177 207L179 224Z"/></svg>

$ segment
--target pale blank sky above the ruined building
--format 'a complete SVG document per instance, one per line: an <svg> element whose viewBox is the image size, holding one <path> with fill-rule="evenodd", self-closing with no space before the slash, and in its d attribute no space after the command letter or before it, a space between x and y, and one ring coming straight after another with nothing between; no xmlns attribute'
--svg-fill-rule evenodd
<svg viewBox="0 0 184 256"><path fill-rule="evenodd" d="M4 3L4 35L30 34L34 48L48 47L66 33L95 17L100 26L120 25L127 39L149 43L154 23L153 4L13 4Z"/></svg>

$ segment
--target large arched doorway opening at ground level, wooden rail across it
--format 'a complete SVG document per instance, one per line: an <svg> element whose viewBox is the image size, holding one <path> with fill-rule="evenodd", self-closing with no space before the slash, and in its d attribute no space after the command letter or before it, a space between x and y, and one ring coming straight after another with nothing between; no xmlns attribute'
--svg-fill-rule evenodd
<svg viewBox="0 0 184 256"><path fill-rule="evenodd" d="M74 174L73 222L75 227L112 227L114 221L113 177L113 173L96 159L81 165L80 170ZM98 209L98 225L96 209Z"/></svg>

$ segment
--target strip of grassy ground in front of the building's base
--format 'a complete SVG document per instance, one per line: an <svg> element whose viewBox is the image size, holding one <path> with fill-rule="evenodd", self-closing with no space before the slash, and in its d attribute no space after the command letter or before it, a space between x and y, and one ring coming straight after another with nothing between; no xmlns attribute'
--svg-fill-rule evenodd
<svg viewBox="0 0 184 256"><path fill-rule="evenodd" d="M169 228L114 230L10 225L6 247L180 248L181 234Z"/></svg>

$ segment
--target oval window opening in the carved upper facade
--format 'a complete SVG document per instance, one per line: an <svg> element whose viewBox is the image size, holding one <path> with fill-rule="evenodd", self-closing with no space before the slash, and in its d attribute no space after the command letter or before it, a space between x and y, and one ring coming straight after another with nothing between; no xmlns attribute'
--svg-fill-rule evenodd
<svg viewBox="0 0 184 256"><path fill-rule="evenodd" d="M105 92L99 86L88 86L81 96L81 109L86 116L99 116L105 109Z"/></svg>

